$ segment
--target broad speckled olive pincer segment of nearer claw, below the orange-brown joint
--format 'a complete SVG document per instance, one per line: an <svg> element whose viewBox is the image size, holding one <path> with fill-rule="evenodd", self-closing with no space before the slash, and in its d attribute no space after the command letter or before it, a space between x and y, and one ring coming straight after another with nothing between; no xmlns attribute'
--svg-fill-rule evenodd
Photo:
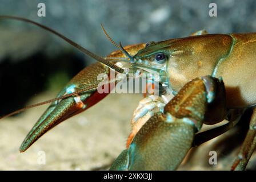
<svg viewBox="0 0 256 182"><path fill-rule="evenodd" d="M191 148L193 122L188 118L171 122L157 113L143 125L129 148L115 160L110 170L174 170ZM170 162L171 161L171 162Z"/></svg>

